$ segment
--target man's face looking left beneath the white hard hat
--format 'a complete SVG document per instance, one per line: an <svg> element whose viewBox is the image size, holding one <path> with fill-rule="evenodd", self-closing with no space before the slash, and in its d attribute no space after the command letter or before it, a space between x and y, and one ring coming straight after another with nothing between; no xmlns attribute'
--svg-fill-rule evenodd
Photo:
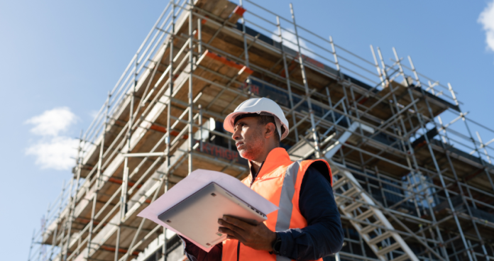
<svg viewBox="0 0 494 261"><path fill-rule="evenodd" d="M246 160L256 160L263 152L265 139L256 117L246 117L238 120L231 138L235 140L240 156Z"/></svg>

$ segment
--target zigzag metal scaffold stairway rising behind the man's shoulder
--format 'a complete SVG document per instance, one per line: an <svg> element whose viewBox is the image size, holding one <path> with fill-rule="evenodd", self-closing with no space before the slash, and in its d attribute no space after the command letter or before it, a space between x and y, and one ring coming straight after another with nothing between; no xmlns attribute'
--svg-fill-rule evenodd
<svg viewBox="0 0 494 261"><path fill-rule="evenodd" d="M331 157L352 137L358 128L361 128L365 133L374 132L373 128L369 126L353 122L339 136L336 143L329 145L322 151L324 157L331 164L334 181L333 191L335 192L336 204L339 206L341 215L348 218L379 260L419 261L400 234L394 232L393 225L384 216L383 212L377 208L374 200L364 193L364 189L353 174L343 170L339 165L331 161ZM326 140L323 143L326 143ZM288 151L292 160L303 160L313 152L312 145L307 144L304 140L300 140ZM399 252L399 250L401 251Z"/></svg>

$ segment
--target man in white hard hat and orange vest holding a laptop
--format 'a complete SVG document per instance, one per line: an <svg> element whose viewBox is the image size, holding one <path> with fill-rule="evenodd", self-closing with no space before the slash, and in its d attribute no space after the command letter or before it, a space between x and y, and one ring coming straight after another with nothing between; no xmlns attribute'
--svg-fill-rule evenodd
<svg viewBox="0 0 494 261"><path fill-rule="evenodd" d="M228 239L209 252L184 240L190 260L322 260L343 245L340 214L331 189L331 169L325 160L292 162L280 140L288 121L275 101L248 99L226 116L224 129L233 133L251 174L243 183L280 209L254 226L224 216L219 233Z"/></svg>

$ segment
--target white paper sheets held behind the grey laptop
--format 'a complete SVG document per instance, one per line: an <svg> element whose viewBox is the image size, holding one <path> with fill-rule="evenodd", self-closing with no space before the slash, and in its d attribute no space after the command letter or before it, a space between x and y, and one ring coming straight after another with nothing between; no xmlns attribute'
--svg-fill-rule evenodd
<svg viewBox="0 0 494 261"><path fill-rule="evenodd" d="M257 194L256 191L253 191L238 179L231 177L229 174L212 170L195 170L190 173L189 176L185 177L185 179L178 182L174 187L172 187L172 189L168 190L168 192L160 196L160 198L156 199L146 209L143 209L143 211L138 213L137 216L148 218L150 221L164 226L165 228L170 229L170 231L187 238L199 248L202 248L202 250L209 252L212 248L204 248L202 245L180 233L180 231L176 231L170 227L167 223L160 221L158 216L212 182L224 187L228 191L234 192L234 195L238 197L238 199L241 199L246 202L246 204L253 206L265 215L278 210L278 206L275 206L275 204L263 198L263 196Z"/></svg>

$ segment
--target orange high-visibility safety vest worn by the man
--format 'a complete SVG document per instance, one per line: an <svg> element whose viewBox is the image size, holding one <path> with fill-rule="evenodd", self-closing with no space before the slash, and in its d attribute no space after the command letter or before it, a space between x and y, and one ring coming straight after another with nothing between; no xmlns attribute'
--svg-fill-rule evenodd
<svg viewBox="0 0 494 261"><path fill-rule="evenodd" d="M289 228L304 228L307 220L299 209L300 186L307 168L314 162L321 161L327 166L331 186L333 177L331 168L325 160L302 160L292 162L288 153L283 148L271 150L261 167L256 179L252 183L252 174L243 179L243 184L251 186L253 191L268 199L280 209L268 214L265 225L271 231L285 231ZM250 167L249 162L249 167ZM326 177L328 178L328 177ZM239 249L238 249L239 248ZM237 252L239 257L237 257ZM238 244L238 240L227 239L223 241L223 261L246 260L290 260L280 255L270 255L268 251L254 250L246 245ZM322 260L322 259L319 259Z"/></svg>

